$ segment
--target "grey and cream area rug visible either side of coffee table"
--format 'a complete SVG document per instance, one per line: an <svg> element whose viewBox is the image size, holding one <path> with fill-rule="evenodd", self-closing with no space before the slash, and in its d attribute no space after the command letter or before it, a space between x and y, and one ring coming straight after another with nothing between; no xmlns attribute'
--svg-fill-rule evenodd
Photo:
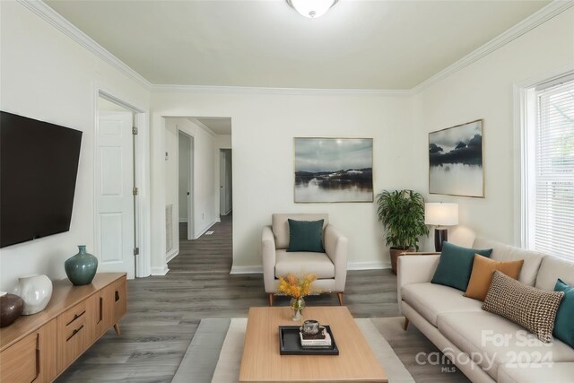
<svg viewBox="0 0 574 383"><path fill-rule="evenodd" d="M378 330L377 319L355 319L391 383L412 383L413 377ZM239 365L247 318L203 319L172 383L231 383Z"/></svg>

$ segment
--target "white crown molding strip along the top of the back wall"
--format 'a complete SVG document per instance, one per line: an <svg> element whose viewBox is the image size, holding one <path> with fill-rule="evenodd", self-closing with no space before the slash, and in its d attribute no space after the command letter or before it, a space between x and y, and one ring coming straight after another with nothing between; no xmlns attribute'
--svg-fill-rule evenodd
<svg viewBox="0 0 574 383"><path fill-rule="evenodd" d="M231 94L287 94L287 95L369 95L369 96L411 96L411 90L385 89L312 89L312 88L272 88L257 86L212 86L212 85L176 85L154 84L152 92L182 93L231 93Z"/></svg>

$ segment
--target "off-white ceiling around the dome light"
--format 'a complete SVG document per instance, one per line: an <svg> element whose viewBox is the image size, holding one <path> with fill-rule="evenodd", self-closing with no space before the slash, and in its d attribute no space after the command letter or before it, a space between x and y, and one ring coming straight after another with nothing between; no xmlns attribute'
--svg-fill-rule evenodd
<svg viewBox="0 0 574 383"><path fill-rule="evenodd" d="M46 3L154 84L398 90L550 2L341 0L315 20L283 0Z"/></svg>

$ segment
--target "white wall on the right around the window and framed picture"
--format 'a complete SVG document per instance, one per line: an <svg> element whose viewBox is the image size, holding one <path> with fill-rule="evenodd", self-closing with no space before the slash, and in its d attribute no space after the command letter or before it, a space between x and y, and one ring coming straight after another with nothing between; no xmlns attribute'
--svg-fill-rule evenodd
<svg viewBox="0 0 574 383"><path fill-rule="evenodd" d="M491 55L414 97L416 151L413 179L428 191L428 132L484 118L485 198L431 195L457 202L461 226L478 235L519 245L515 84L574 70L574 9L527 32Z"/></svg>

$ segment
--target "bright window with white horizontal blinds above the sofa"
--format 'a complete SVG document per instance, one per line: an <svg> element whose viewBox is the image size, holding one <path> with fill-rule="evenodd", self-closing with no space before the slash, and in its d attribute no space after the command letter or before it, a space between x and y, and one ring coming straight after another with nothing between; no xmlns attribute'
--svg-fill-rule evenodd
<svg viewBox="0 0 574 383"><path fill-rule="evenodd" d="M526 91L526 248L574 259L574 77Z"/></svg>

